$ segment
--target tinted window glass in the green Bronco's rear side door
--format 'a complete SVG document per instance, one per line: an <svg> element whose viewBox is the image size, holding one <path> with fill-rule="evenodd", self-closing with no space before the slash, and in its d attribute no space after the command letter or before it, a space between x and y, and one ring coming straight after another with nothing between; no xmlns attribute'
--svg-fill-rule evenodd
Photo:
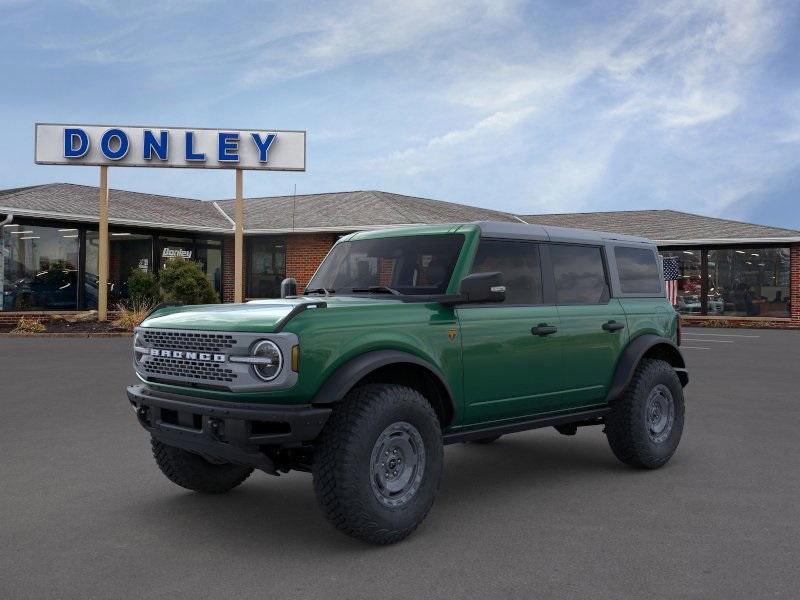
<svg viewBox="0 0 800 600"><path fill-rule="evenodd" d="M603 254L595 246L550 246L559 304L602 304L609 292Z"/></svg>

